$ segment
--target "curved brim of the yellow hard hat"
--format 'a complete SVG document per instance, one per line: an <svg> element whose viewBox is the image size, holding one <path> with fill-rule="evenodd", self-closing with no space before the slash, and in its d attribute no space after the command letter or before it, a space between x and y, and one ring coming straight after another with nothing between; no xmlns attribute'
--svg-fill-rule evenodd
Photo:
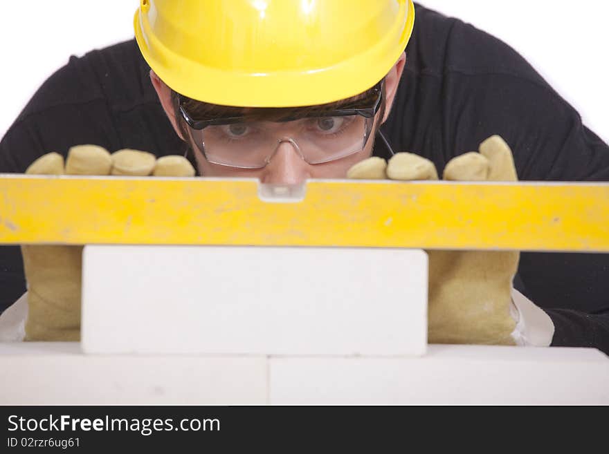
<svg viewBox="0 0 609 454"><path fill-rule="evenodd" d="M329 68L272 73L221 70L193 62L157 39L141 10L134 17L134 29L146 62L181 95L224 106L281 108L327 104L371 88L387 75L406 49L414 22L415 7L412 0L407 0L393 24L396 29L389 30L384 39L363 53Z"/></svg>

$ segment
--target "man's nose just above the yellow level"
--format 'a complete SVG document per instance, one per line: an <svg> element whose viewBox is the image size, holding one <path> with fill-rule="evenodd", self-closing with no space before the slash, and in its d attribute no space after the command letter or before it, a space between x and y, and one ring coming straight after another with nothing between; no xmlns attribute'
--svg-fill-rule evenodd
<svg viewBox="0 0 609 454"><path fill-rule="evenodd" d="M311 178L311 164L302 158L298 145L291 140L278 143L260 180L271 185L299 185Z"/></svg>

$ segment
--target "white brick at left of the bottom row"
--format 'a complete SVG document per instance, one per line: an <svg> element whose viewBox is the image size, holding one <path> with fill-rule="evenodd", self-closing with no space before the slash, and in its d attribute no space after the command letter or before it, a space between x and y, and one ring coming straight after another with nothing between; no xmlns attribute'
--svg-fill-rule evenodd
<svg viewBox="0 0 609 454"><path fill-rule="evenodd" d="M266 357L96 356L0 343L1 405L260 405Z"/></svg>

